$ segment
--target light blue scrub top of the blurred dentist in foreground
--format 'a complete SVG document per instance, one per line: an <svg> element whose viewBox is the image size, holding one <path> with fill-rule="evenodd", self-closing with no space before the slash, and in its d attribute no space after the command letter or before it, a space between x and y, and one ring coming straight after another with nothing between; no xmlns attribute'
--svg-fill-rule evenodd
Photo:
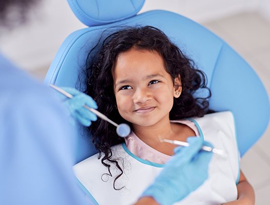
<svg viewBox="0 0 270 205"><path fill-rule="evenodd" d="M60 99L0 54L0 204L89 204Z"/></svg>

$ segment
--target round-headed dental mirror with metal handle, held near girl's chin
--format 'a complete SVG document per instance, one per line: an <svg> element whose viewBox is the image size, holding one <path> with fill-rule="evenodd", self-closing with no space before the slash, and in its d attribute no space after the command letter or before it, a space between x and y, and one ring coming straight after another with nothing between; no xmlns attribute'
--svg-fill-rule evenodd
<svg viewBox="0 0 270 205"><path fill-rule="evenodd" d="M73 95L71 95L70 93L66 92L65 90L50 84L50 87L52 87L53 89L57 90L58 92L62 93L63 95L67 96L68 98L73 98ZM110 124L114 125L115 127L117 127L116 132L120 137L127 137L130 134L130 127L125 124L122 123L120 125L116 124L114 121L110 120L107 116L105 116L104 114L100 113L99 111L90 108L87 105L83 105L83 107L91 112L93 112L94 114L96 114L97 116L99 116L101 119L110 122Z"/></svg>

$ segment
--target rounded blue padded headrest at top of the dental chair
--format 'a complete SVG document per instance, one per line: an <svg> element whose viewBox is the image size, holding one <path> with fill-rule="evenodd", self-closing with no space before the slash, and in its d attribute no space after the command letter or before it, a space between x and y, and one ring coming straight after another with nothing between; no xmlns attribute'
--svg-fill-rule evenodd
<svg viewBox="0 0 270 205"><path fill-rule="evenodd" d="M136 15L145 0L68 0L69 6L86 26L118 22Z"/></svg>

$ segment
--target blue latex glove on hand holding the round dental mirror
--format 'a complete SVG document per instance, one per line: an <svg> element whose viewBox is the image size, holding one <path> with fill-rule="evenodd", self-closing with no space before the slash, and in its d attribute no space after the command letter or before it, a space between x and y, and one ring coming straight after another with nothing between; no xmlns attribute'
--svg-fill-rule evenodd
<svg viewBox="0 0 270 205"><path fill-rule="evenodd" d="M91 121L97 120L97 115L83 107L83 105L87 105L90 108L98 108L95 101L89 95L86 95L75 88L61 87L61 89L73 95L73 98L67 98L65 100L65 104L75 119L86 127L91 125Z"/></svg>

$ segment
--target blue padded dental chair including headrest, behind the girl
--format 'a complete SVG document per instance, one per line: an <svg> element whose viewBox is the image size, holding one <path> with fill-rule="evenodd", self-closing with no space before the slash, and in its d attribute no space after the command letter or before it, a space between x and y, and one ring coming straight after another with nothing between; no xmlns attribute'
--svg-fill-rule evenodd
<svg viewBox="0 0 270 205"><path fill-rule="evenodd" d="M269 121L266 90L246 61L224 40L196 22L176 13L153 10L136 15L144 0L68 0L75 15L88 26L71 33L57 52L45 84L77 87L88 51L102 31L117 26L150 25L161 29L208 78L210 108L234 113L241 156L262 136ZM82 76L80 78L83 80ZM196 95L203 96L203 92ZM89 136L78 126L75 162L96 153Z"/></svg>

